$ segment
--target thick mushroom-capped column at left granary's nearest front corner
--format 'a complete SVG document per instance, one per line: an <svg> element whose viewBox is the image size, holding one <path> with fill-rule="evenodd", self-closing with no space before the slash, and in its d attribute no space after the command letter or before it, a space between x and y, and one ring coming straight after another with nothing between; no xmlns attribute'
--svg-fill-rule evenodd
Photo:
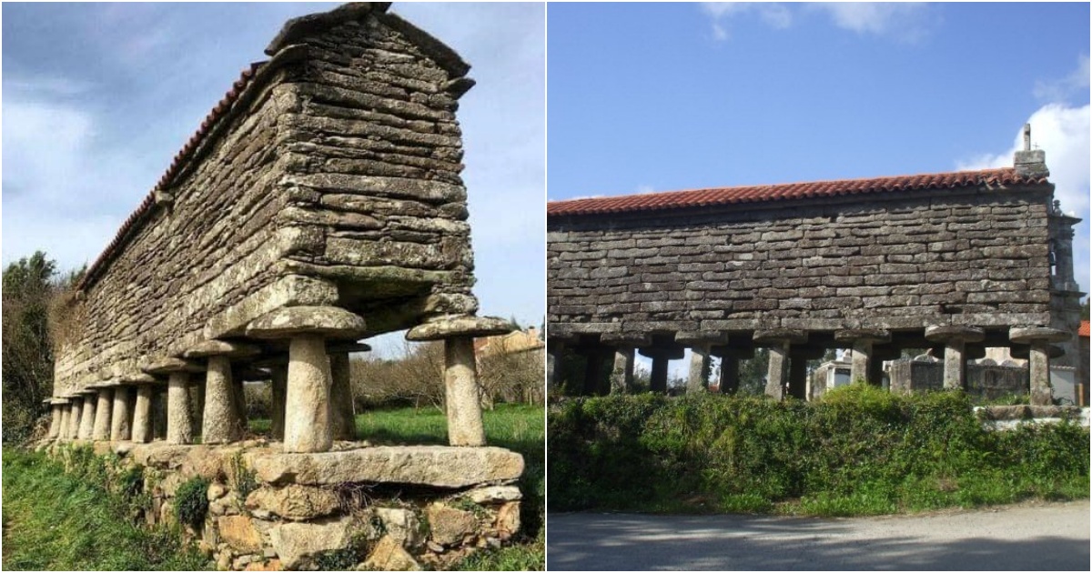
<svg viewBox="0 0 1092 573"><path fill-rule="evenodd" d="M247 325L256 338L288 339L284 451L325 452L333 445L332 374L328 338L352 341L366 332L364 319L337 307L286 307Z"/></svg>

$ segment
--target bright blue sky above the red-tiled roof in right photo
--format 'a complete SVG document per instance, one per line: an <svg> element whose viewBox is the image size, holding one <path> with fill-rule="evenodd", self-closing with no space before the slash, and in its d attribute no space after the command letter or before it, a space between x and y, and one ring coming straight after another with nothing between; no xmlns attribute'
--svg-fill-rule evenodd
<svg viewBox="0 0 1092 573"><path fill-rule="evenodd" d="M551 3L547 20L550 200L1005 166L1030 121L1085 219L1090 286L1088 3Z"/></svg>

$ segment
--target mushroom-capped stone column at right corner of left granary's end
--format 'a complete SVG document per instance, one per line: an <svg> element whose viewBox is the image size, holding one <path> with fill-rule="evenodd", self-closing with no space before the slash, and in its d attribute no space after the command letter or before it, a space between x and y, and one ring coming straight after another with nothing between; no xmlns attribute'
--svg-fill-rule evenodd
<svg viewBox="0 0 1092 573"><path fill-rule="evenodd" d="M436 319L406 333L407 341L443 341L448 442L451 445L485 445L474 338L509 332L512 326L506 320L464 315Z"/></svg>

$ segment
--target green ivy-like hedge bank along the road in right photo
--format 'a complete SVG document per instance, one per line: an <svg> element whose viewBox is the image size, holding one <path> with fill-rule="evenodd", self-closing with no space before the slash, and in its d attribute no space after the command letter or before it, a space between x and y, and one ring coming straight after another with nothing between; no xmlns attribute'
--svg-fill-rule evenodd
<svg viewBox="0 0 1092 573"><path fill-rule="evenodd" d="M982 428L961 392L652 394L549 417L551 510L868 515L1089 496L1089 431Z"/></svg>

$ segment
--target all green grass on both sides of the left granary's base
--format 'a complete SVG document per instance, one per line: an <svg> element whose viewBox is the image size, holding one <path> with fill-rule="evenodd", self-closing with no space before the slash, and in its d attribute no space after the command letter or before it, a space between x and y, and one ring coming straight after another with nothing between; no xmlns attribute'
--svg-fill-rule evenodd
<svg viewBox="0 0 1092 573"><path fill-rule="evenodd" d="M357 416L360 439L375 444L442 444L443 415L403 408ZM523 454L523 534L518 542L483 551L464 570L542 570L546 564L545 419L541 406L500 405L485 413L490 445ZM268 420L251 421L256 433ZM64 473L44 454L3 450L4 570L199 570L206 561L179 547L178 536L130 520L129 504L105 488Z"/></svg>

